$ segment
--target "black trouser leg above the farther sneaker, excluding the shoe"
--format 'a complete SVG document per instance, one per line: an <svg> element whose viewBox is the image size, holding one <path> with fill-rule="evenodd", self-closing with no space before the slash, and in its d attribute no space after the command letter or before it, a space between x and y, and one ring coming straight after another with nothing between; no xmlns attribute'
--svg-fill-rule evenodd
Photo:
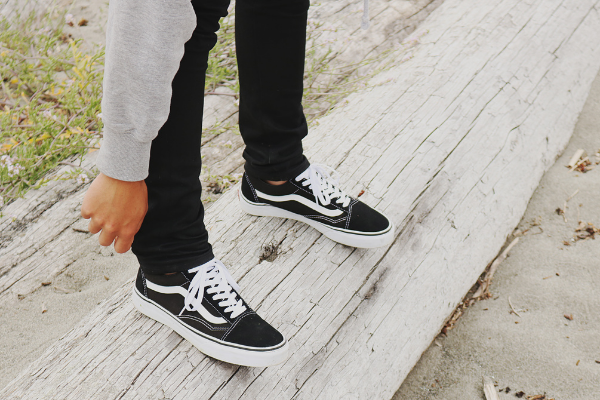
<svg viewBox="0 0 600 400"><path fill-rule="evenodd" d="M238 0L236 51L240 76L240 132L248 174L287 180L309 163L302 111L309 0Z"/></svg>

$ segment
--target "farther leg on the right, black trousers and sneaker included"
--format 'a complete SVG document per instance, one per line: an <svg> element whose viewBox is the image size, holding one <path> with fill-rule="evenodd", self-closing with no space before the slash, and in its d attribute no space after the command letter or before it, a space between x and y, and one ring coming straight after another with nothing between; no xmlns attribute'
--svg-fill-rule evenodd
<svg viewBox="0 0 600 400"><path fill-rule="evenodd" d="M348 246L385 246L394 239L392 222L344 193L325 168L310 165L302 154L308 6L307 0L236 4L240 131L246 143L240 205L249 214L305 222Z"/></svg>

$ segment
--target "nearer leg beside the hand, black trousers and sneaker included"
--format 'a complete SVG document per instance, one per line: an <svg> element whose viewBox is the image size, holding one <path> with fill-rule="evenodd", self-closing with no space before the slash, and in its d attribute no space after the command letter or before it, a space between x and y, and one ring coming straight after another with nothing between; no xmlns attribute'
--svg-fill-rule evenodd
<svg viewBox="0 0 600 400"><path fill-rule="evenodd" d="M204 74L228 0L192 0L198 27L173 80L169 118L152 142L149 210L133 250L140 261L133 304L203 353L233 364L285 361L283 335L240 297L214 258L200 201Z"/></svg>

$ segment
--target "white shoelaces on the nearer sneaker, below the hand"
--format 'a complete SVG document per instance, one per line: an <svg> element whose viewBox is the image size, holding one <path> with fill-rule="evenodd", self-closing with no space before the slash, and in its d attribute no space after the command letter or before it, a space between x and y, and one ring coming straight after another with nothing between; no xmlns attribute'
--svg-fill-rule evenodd
<svg viewBox="0 0 600 400"><path fill-rule="evenodd" d="M188 294L184 302L185 307L181 310L181 313L184 310L196 311L196 305L202 303L205 287L208 287L206 293L213 295L213 300L222 300L219 302L219 306L225 307L224 312L231 313L231 318L235 318L246 311L246 306L242 300L236 300L237 294L232 291L233 289L238 292L240 287L235 283L221 261L215 258L206 264L190 269L188 272L196 273L196 275L188 288Z"/></svg>

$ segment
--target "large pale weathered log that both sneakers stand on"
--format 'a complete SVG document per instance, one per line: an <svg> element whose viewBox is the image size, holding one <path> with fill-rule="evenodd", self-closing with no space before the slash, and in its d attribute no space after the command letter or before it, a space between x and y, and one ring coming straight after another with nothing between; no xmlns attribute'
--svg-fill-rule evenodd
<svg viewBox="0 0 600 400"><path fill-rule="evenodd" d="M245 298L290 339L281 366L210 360L133 311L124 285L0 398L389 398L519 221L600 68L599 1L447 0L390 82L306 141L398 226L387 249L208 211ZM405 59L405 54L399 54ZM258 262L264 244L274 262Z"/></svg>

